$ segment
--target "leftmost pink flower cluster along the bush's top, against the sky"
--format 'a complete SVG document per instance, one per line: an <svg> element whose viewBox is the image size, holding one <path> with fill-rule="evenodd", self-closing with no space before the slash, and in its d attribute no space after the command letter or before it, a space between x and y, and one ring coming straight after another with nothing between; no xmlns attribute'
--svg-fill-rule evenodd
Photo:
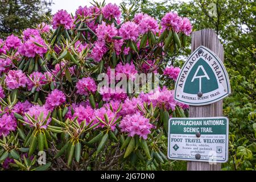
<svg viewBox="0 0 256 182"><path fill-rule="evenodd" d="M59 10L52 17L52 26L55 29L59 26L63 26L66 30L70 30L73 25L73 19L66 10Z"/></svg>

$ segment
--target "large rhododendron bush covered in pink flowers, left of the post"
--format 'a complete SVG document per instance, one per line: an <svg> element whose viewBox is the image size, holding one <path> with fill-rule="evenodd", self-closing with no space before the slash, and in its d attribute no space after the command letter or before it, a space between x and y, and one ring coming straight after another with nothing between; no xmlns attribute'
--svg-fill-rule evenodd
<svg viewBox="0 0 256 182"><path fill-rule="evenodd" d="M174 100L180 68L167 56L185 46L192 26L172 12L160 22L133 13L111 3L80 6L75 15L59 10L51 24L0 40L1 168L168 162L168 119L185 117L188 106ZM153 78L135 92L129 86L142 73Z"/></svg>

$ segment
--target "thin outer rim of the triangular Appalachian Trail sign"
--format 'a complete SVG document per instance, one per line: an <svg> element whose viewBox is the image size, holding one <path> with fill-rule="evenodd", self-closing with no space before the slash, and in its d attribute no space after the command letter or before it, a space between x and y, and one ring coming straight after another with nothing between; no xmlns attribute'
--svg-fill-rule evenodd
<svg viewBox="0 0 256 182"><path fill-rule="evenodd" d="M211 101L208 101L208 102L193 103L193 102L181 101L181 100L179 100L178 98L176 98L176 91L177 91L176 88L177 88L178 81L180 80L181 73L183 72L183 69L185 68L185 65L186 65L186 63L188 62L188 60L190 60L191 57L192 57L193 55L195 55L195 53L197 53L200 48L202 48L202 49L204 49L205 51L209 52L209 53L218 61L218 64L221 65L222 71L224 72L224 75L225 75L225 78L226 78L226 82L227 82L227 86L228 86L228 92L227 92L224 96L218 97L218 98L216 98L216 99L214 99L214 100L211 100ZM186 78L186 79L187 79L187 78ZM228 72L226 71L226 68L224 67L222 61L220 61L220 58L218 58L217 55L213 54L212 51L211 51L210 49L208 49L207 47L199 46L199 47L191 54L191 56L189 56L189 58L187 59L187 61L185 61L185 64L184 64L183 67L181 68L179 77L177 78L177 81L176 81L176 84L175 84L174 99L175 99L176 101L182 102L182 103L184 103L184 104L189 104L189 105L193 105L193 106L200 106L200 105L208 105L208 104L212 104L212 103L214 103L214 102L220 101L220 100L222 100L223 98L229 96L230 94L231 94L231 88L230 88L229 76L228 76Z"/></svg>

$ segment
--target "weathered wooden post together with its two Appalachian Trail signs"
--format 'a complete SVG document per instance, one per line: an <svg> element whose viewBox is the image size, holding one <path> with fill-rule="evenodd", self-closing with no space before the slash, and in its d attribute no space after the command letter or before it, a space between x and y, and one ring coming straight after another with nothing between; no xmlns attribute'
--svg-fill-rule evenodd
<svg viewBox="0 0 256 182"><path fill-rule="evenodd" d="M187 133L188 138L183 138L181 143L176 143L179 146L179 154L169 146L168 156L169 158L171 156L172 159L174 157L181 158L183 151L194 148L193 155L184 155L183 159L177 160L188 160L187 169L191 171L220 170L221 163L228 160L228 118L221 118L222 100L231 94L228 73L223 64L224 49L214 30L205 29L193 32L191 51L191 56L181 68L176 81L175 100L189 105L191 121L195 118L201 118L203 124L200 126L198 123L192 123L194 125L191 126L171 126L170 120L169 127L172 129L170 129L171 134L168 133L168 143L172 144L170 138L177 138L184 134L184 131L189 134ZM204 119L211 120L214 117L219 117L216 118L218 121L225 120L225 125L204 125ZM172 120L172 122L174 121ZM208 138L210 135L217 136L217 140ZM200 144L196 143L199 141ZM182 144L185 145L182 146ZM196 145L197 147L193 147ZM200 145L206 147L200 147ZM200 148L207 148L207 146L212 146L210 148L212 150L200 151ZM213 153L222 155L218 155L221 157L217 163L210 163L210 158L213 158L213 155L210 154ZM208 158L209 160L207 160Z"/></svg>

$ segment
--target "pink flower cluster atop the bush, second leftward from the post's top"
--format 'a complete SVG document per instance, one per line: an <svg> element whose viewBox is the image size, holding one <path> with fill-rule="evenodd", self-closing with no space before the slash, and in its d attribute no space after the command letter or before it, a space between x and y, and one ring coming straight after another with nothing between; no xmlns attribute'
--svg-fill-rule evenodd
<svg viewBox="0 0 256 182"><path fill-rule="evenodd" d="M182 26L182 19L176 13L169 12L167 13L161 20L161 25L163 26L163 30L174 30L175 32L179 32Z"/></svg>

